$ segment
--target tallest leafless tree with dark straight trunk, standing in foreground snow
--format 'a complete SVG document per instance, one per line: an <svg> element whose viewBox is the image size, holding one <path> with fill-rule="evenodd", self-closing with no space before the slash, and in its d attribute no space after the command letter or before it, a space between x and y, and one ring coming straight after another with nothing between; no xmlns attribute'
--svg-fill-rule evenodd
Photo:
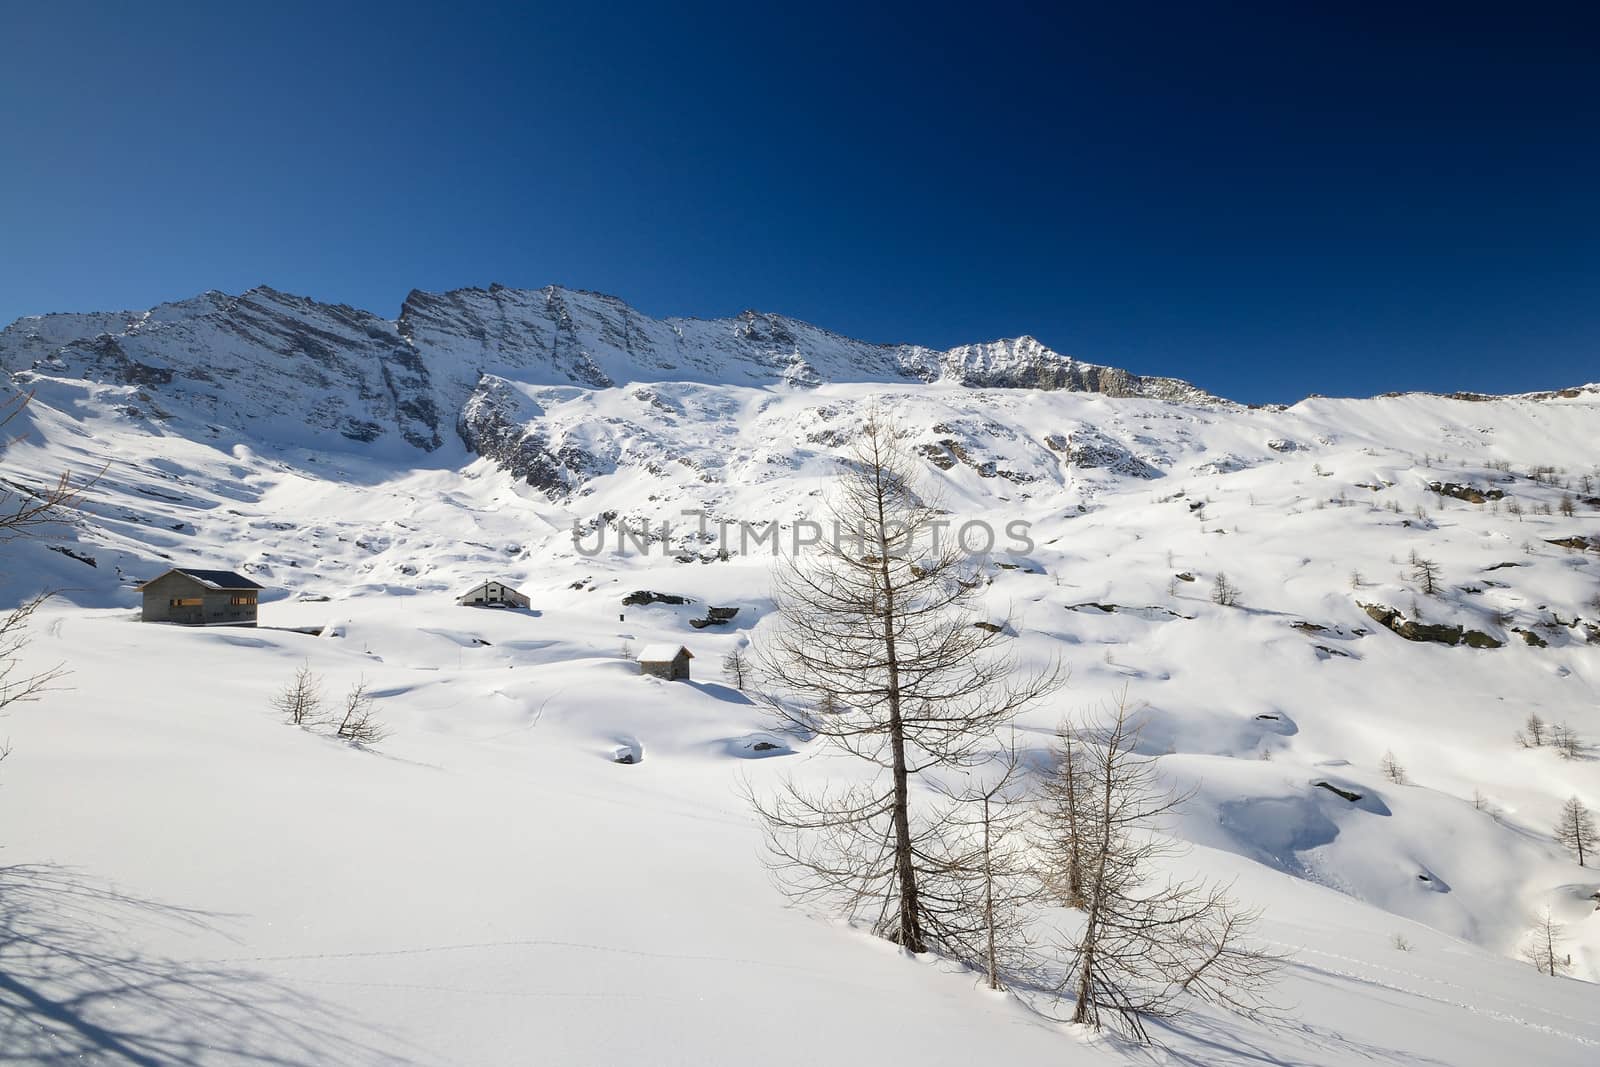
<svg viewBox="0 0 1600 1067"><path fill-rule="evenodd" d="M918 811L912 782L981 761L997 728L1062 677L1018 669L1005 627L973 625L982 582L958 542L939 544L941 514L914 472L893 427L869 418L829 498L834 536L778 565L778 627L755 648L781 725L874 773L838 789L787 781L752 803L792 899L866 920L910 952L960 952L950 923L965 912L922 896L947 862L947 813ZM837 710L818 715L818 699Z"/></svg>

